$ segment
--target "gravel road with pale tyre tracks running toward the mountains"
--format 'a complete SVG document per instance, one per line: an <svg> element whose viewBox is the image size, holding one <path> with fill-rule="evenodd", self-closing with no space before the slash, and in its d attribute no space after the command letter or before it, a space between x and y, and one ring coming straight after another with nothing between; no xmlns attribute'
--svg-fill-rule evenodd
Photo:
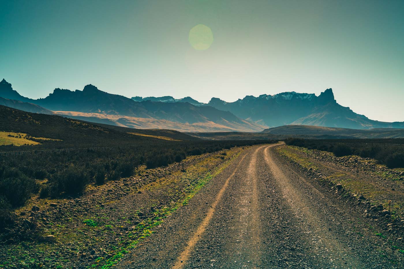
<svg viewBox="0 0 404 269"><path fill-rule="evenodd" d="M367 220L284 161L245 150L120 268L403 268Z"/></svg>

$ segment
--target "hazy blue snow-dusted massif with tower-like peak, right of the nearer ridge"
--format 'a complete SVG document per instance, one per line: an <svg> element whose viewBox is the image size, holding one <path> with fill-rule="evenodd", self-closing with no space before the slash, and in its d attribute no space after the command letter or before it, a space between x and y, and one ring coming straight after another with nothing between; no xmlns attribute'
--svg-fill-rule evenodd
<svg viewBox="0 0 404 269"><path fill-rule="evenodd" d="M171 96L160 98L164 102L181 102L180 100L182 100L174 99ZM212 106L222 111L229 111L242 119L268 127L315 125L351 129L404 128L403 122L374 121L353 112L349 107L341 106L335 100L331 88L325 90L319 96L283 92L275 95L262 94L258 97L246 96L235 102L225 102L219 98L211 98L207 104L198 102L198 105Z"/></svg>

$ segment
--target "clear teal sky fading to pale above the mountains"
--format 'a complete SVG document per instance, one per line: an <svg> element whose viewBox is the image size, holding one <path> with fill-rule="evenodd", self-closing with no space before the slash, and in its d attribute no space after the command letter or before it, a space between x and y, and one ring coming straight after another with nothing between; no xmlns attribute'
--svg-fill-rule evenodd
<svg viewBox="0 0 404 269"><path fill-rule="evenodd" d="M356 113L404 121L402 0L0 0L0 7L0 79L29 98L87 84L200 102L332 88Z"/></svg>

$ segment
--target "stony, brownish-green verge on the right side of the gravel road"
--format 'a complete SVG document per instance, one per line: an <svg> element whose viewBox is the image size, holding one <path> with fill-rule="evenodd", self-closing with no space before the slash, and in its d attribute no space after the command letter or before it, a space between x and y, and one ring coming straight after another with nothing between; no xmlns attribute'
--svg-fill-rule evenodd
<svg viewBox="0 0 404 269"><path fill-rule="evenodd" d="M376 165L370 158L336 157L295 146L280 147L278 152L312 181L345 200L398 242L404 242L403 171Z"/></svg>

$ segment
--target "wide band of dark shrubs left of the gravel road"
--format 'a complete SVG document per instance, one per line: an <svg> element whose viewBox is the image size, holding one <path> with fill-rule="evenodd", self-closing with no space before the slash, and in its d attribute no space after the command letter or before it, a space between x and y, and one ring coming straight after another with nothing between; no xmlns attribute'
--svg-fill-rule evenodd
<svg viewBox="0 0 404 269"><path fill-rule="evenodd" d="M146 142L125 148L0 156L2 219L6 219L10 209L23 205L33 194L39 194L41 198L73 197L82 193L88 184L102 185L106 181L130 177L141 165L148 169L162 167L191 155L260 143L263 142Z"/></svg>

